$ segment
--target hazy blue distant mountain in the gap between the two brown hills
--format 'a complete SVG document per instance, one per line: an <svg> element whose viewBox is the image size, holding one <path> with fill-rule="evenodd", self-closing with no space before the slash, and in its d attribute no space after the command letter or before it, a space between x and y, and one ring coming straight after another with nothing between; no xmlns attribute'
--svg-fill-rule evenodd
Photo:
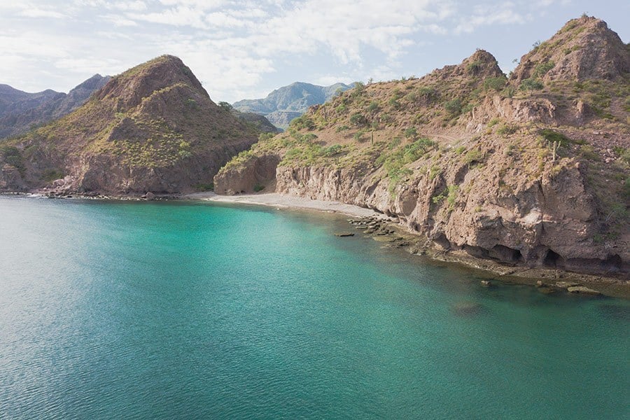
<svg viewBox="0 0 630 420"><path fill-rule="evenodd" d="M258 113L267 117L276 127L286 128L290 120L301 116L309 106L328 102L337 92L351 87L344 83L318 86L295 82L274 90L265 99L244 99L233 105L238 111Z"/></svg>

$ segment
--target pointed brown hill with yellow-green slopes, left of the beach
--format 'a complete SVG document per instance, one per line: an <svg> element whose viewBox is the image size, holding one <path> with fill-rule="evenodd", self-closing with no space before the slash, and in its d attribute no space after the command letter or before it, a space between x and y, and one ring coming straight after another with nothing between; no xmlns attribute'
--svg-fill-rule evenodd
<svg viewBox="0 0 630 420"><path fill-rule="evenodd" d="M59 120L0 142L0 189L189 192L209 186L257 136L179 58L163 55L111 78Z"/></svg>

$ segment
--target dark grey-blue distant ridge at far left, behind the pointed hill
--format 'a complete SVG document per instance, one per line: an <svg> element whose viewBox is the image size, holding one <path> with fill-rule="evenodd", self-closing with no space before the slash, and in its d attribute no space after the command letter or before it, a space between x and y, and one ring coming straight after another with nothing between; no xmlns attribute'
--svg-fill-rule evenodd
<svg viewBox="0 0 630 420"><path fill-rule="evenodd" d="M110 79L95 74L68 94L45 90L27 93L0 85L0 139L24 134L31 127L43 125L70 113Z"/></svg>

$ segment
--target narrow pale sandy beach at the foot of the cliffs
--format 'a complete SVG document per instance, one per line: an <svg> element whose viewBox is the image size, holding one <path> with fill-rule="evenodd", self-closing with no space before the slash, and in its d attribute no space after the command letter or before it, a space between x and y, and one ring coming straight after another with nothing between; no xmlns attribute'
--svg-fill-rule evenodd
<svg viewBox="0 0 630 420"><path fill-rule="evenodd" d="M262 194L239 194L239 195L217 195L212 192L193 193L182 197L186 200L204 200L221 203L235 204L258 204L267 207L276 207L279 209L303 209L326 211L328 213L347 214L356 217L378 217L388 219L384 214L377 213L371 209L353 206L352 204L344 204L342 202L329 202L323 200L311 200L304 197L295 197L293 195L283 195L278 193L262 193Z"/></svg>

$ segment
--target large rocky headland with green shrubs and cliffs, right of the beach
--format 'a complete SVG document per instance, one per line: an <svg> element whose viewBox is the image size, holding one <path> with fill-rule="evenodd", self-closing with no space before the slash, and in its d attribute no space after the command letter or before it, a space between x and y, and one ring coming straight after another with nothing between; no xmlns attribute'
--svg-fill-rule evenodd
<svg viewBox="0 0 630 420"><path fill-rule="evenodd" d="M358 84L234 158L215 190L375 209L415 234L399 246L502 274L627 281L629 60L583 17L510 78L477 50L422 78Z"/></svg>

